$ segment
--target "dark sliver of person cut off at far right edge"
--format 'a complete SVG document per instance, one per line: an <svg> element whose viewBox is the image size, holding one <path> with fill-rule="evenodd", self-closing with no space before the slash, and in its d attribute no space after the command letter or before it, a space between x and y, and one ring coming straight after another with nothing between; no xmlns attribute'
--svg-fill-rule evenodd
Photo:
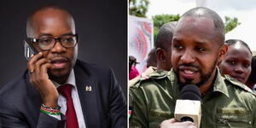
<svg viewBox="0 0 256 128"><path fill-rule="evenodd" d="M247 79L246 85L253 91L255 91L255 84L256 84L256 56L253 56L252 64L251 64L252 71L250 73L249 78Z"/></svg>

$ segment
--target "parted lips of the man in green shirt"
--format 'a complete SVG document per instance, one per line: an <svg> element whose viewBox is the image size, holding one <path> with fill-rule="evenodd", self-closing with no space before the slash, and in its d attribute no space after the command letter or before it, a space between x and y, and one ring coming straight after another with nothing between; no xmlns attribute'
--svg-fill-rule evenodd
<svg viewBox="0 0 256 128"><path fill-rule="evenodd" d="M195 79L196 75L198 74L198 68L197 67L185 67L180 66L178 67L179 74L183 79Z"/></svg>

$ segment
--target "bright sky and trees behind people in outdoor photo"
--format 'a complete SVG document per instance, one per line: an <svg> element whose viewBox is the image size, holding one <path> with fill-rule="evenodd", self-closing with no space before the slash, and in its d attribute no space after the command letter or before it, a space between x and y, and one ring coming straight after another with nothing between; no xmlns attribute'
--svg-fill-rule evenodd
<svg viewBox="0 0 256 128"><path fill-rule="evenodd" d="M129 3L130 15L153 20L153 41L160 26L177 21L189 9L201 6L212 9L221 16L225 24L226 39L243 40L252 49L253 55L256 55L253 38L253 31L256 29L255 0L129 0Z"/></svg>

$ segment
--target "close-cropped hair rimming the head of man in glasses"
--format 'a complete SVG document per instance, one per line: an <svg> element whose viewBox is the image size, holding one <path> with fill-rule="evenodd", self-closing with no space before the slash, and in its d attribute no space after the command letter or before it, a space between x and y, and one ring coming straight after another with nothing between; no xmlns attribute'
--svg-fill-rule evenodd
<svg viewBox="0 0 256 128"><path fill-rule="evenodd" d="M38 9L35 9L31 15L28 16L27 20L26 20L26 37L29 38L32 36L32 16L35 15L36 13L38 13L39 11L43 11L43 10L47 10L47 9L58 9L61 11L64 11L65 13L67 13L67 15L73 20L73 16L70 15L66 9L61 8L60 6L57 6L55 4L47 4L44 5ZM74 20L73 20L74 23Z"/></svg>

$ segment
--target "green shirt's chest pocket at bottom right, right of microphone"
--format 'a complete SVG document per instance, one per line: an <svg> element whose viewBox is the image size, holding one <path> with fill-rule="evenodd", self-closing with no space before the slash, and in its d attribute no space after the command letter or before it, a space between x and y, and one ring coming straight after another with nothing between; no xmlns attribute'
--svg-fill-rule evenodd
<svg viewBox="0 0 256 128"><path fill-rule="evenodd" d="M218 128L253 128L250 111L245 108L218 108Z"/></svg>

